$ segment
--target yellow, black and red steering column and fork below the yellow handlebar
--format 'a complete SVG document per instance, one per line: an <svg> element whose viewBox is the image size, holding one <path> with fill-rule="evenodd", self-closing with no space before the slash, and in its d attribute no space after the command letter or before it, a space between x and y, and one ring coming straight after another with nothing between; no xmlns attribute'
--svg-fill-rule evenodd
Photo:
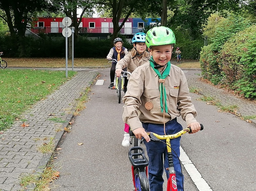
<svg viewBox="0 0 256 191"><path fill-rule="evenodd" d="M166 139L167 152L168 152L168 163L169 163L169 178L167 182L167 191L177 191L176 172L173 164L173 154L171 149L170 139Z"/></svg>

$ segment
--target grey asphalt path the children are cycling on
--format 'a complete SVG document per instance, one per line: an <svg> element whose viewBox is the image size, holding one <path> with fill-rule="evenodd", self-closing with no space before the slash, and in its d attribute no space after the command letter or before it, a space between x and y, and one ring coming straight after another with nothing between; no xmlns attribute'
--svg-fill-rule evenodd
<svg viewBox="0 0 256 191"><path fill-rule="evenodd" d="M62 150L56 154L58 158L52 162L60 171L52 190L131 191L133 188L129 148L121 146L123 103L118 103L115 90L107 89L109 68L98 72L104 84L92 86L86 109L75 117L71 132L64 135L59 145ZM191 77L196 73L200 72L190 70L185 74ZM205 129L181 139L190 160L213 191L255 191L255 126L196 100L199 95L191 96L198 111L197 120ZM179 122L185 124L180 119ZM198 191L185 170L184 176L184 190Z"/></svg>

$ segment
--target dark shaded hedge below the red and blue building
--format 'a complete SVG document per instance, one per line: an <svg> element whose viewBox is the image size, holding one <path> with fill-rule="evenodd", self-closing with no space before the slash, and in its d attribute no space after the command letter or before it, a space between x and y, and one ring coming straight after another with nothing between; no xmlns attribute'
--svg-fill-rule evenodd
<svg viewBox="0 0 256 191"><path fill-rule="evenodd" d="M65 57L65 38L64 37L48 37L34 39L33 37L25 37L25 54L23 57ZM124 47L130 50L132 45L124 36L120 36L124 41ZM6 57L19 57L20 48L16 38L10 36L0 37L1 51ZM113 42L110 39L95 39L89 40L80 37L74 43L75 57L95 57L104 58L109 50L113 47Z"/></svg>

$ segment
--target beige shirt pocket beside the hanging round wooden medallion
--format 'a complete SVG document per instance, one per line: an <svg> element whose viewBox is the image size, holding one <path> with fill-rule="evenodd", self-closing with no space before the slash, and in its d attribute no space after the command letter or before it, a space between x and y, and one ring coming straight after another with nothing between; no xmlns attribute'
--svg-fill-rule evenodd
<svg viewBox="0 0 256 191"><path fill-rule="evenodd" d="M145 102L142 104L145 105L145 103L151 102L153 108L150 111L161 111L159 95L158 89L144 89L143 96L145 97Z"/></svg>

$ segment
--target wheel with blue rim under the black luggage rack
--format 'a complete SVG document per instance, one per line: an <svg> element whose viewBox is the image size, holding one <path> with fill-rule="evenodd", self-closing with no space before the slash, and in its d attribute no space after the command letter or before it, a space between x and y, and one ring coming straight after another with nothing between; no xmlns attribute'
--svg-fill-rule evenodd
<svg viewBox="0 0 256 191"><path fill-rule="evenodd" d="M148 177L145 171L134 170L135 187L137 191L149 191Z"/></svg>

